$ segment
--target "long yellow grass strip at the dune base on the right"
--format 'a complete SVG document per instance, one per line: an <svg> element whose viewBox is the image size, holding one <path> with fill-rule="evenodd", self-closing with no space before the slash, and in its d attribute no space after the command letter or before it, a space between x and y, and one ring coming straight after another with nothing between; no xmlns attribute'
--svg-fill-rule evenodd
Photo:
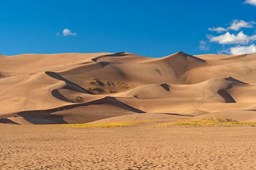
<svg viewBox="0 0 256 170"><path fill-rule="evenodd" d="M237 122L232 119L225 118L207 118L207 119L185 119L172 123L164 123L154 125L154 127L168 127L168 126L234 126L234 125L250 125L256 126L256 122Z"/></svg>

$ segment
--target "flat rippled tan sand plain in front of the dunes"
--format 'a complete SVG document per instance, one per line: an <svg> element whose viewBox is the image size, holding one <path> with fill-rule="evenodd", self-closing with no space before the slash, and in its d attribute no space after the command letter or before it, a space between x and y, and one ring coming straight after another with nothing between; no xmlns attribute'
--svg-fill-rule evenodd
<svg viewBox="0 0 256 170"><path fill-rule="evenodd" d="M0 125L1 170L256 169L256 127Z"/></svg>

